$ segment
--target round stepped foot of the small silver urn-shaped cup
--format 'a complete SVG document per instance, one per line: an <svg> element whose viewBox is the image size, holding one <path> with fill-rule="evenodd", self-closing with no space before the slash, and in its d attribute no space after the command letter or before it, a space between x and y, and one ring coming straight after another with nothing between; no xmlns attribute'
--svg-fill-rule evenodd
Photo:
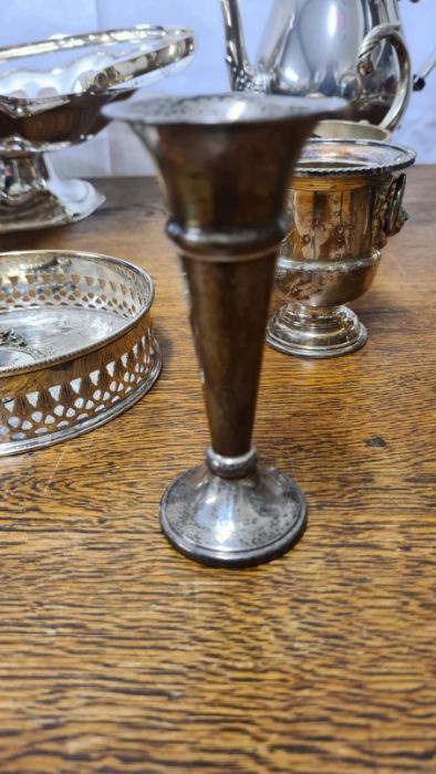
<svg viewBox="0 0 436 774"><path fill-rule="evenodd" d="M311 308L283 304L270 318L267 344L286 355L339 357L366 343L366 328L347 306Z"/></svg>

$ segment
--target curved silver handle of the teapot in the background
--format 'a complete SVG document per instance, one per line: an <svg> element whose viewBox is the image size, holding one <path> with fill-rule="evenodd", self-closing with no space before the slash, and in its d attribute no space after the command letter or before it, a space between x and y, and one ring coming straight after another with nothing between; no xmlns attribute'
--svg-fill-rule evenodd
<svg viewBox="0 0 436 774"><path fill-rule="evenodd" d="M412 91L411 59L398 24L377 24L362 41L357 54L357 73L361 77L370 75L374 65L371 59L373 51L387 41L395 49L399 65L399 83L394 102L380 126L392 132L398 123Z"/></svg>

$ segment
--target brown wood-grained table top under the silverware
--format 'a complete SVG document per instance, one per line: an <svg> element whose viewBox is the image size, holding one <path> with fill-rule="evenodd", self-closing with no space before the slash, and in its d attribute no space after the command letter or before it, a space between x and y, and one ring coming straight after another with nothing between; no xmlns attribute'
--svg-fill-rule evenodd
<svg viewBox="0 0 436 774"><path fill-rule="evenodd" d="M105 427L0 460L2 774L436 771L436 168L354 304L360 352L266 348L255 440L307 495L282 558L221 571L176 553L159 498L208 439L153 180L1 249L131 260L156 283L164 368Z"/></svg>

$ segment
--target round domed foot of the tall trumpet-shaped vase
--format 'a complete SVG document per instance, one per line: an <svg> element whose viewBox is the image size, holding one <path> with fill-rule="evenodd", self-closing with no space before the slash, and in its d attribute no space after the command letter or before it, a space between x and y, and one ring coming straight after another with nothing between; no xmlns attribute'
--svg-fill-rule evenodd
<svg viewBox="0 0 436 774"><path fill-rule="evenodd" d="M227 474L214 472L226 468ZM305 503L288 475L256 454L229 460L209 450L206 464L181 473L164 493L160 524L197 562L248 567L280 556L301 537Z"/></svg>

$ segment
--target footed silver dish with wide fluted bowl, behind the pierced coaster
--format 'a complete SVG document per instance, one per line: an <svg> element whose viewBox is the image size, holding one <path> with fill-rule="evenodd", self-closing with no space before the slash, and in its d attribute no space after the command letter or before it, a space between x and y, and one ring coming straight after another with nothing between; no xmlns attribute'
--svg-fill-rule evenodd
<svg viewBox="0 0 436 774"><path fill-rule="evenodd" d="M148 24L0 49L0 233L93 212L104 197L59 180L42 154L93 137L103 105L176 74L193 52L189 30Z"/></svg>

